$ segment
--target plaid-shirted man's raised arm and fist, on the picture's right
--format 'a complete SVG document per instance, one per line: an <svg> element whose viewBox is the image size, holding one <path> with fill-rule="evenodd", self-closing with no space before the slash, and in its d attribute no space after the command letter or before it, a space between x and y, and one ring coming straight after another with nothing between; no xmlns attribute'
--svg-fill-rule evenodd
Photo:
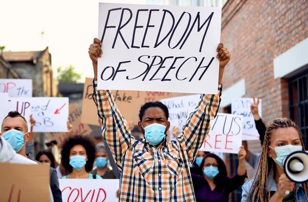
<svg viewBox="0 0 308 202"><path fill-rule="evenodd" d="M209 122L215 118L218 112L222 90L221 82L223 71L226 64L229 62L231 55L228 49L223 47L223 44L218 45L217 52L217 58L220 60L217 94L201 95L198 106L195 111L190 114L186 124L183 126L183 135L177 137L177 139L184 138L185 150L188 152L189 163L194 161L194 158L210 129Z"/></svg>

